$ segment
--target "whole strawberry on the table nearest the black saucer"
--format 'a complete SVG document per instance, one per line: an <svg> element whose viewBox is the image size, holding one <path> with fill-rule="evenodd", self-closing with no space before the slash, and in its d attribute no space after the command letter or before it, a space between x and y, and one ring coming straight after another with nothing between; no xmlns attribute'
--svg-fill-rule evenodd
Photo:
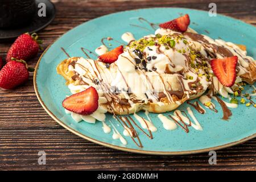
<svg viewBox="0 0 256 182"><path fill-rule="evenodd" d="M12 57L24 61L31 59L38 54L40 43L42 40L38 40L38 35L35 33L20 35L7 52L6 62L10 61Z"/></svg>

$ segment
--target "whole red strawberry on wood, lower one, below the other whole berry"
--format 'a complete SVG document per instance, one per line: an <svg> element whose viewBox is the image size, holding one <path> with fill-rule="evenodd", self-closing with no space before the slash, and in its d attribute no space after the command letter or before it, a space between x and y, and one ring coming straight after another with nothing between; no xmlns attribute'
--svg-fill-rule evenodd
<svg viewBox="0 0 256 182"><path fill-rule="evenodd" d="M0 87L13 89L28 80L27 64L23 60L11 60L0 71Z"/></svg>

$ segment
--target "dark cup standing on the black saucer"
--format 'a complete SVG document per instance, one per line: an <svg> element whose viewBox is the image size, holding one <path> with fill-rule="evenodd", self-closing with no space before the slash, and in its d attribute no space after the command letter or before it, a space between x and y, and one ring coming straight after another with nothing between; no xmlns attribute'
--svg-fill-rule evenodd
<svg viewBox="0 0 256 182"><path fill-rule="evenodd" d="M0 28L23 26L35 11L35 0L0 0Z"/></svg>

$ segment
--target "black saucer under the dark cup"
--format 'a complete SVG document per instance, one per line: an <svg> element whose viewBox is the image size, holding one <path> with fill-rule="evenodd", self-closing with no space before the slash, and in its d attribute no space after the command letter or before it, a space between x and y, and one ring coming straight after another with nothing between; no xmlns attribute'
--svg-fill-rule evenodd
<svg viewBox="0 0 256 182"><path fill-rule="evenodd" d="M36 14L32 22L24 25L23 27L16 27L16 28L1 28L0 29L0 40L3 39L12 39L16 38L19 35L26 33L26 32L37 32L42 30L46 27L52 20L55 18L55 6L51 1L48 0L35 0L36 2ZM38 4L39 3L46 4L46 17L39 17L38 16Z"/></svg>

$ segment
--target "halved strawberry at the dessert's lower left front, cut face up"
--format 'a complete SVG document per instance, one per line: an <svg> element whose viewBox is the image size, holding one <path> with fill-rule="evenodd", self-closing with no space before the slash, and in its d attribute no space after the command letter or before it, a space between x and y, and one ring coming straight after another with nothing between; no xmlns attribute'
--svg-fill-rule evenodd
<svg viewBox="0 0 256 182"><path fill-rule="evenodd" d="M90 86L88 89L65 98L65 109L81 115L89 115L98 109L98 93Z"/></svg>

